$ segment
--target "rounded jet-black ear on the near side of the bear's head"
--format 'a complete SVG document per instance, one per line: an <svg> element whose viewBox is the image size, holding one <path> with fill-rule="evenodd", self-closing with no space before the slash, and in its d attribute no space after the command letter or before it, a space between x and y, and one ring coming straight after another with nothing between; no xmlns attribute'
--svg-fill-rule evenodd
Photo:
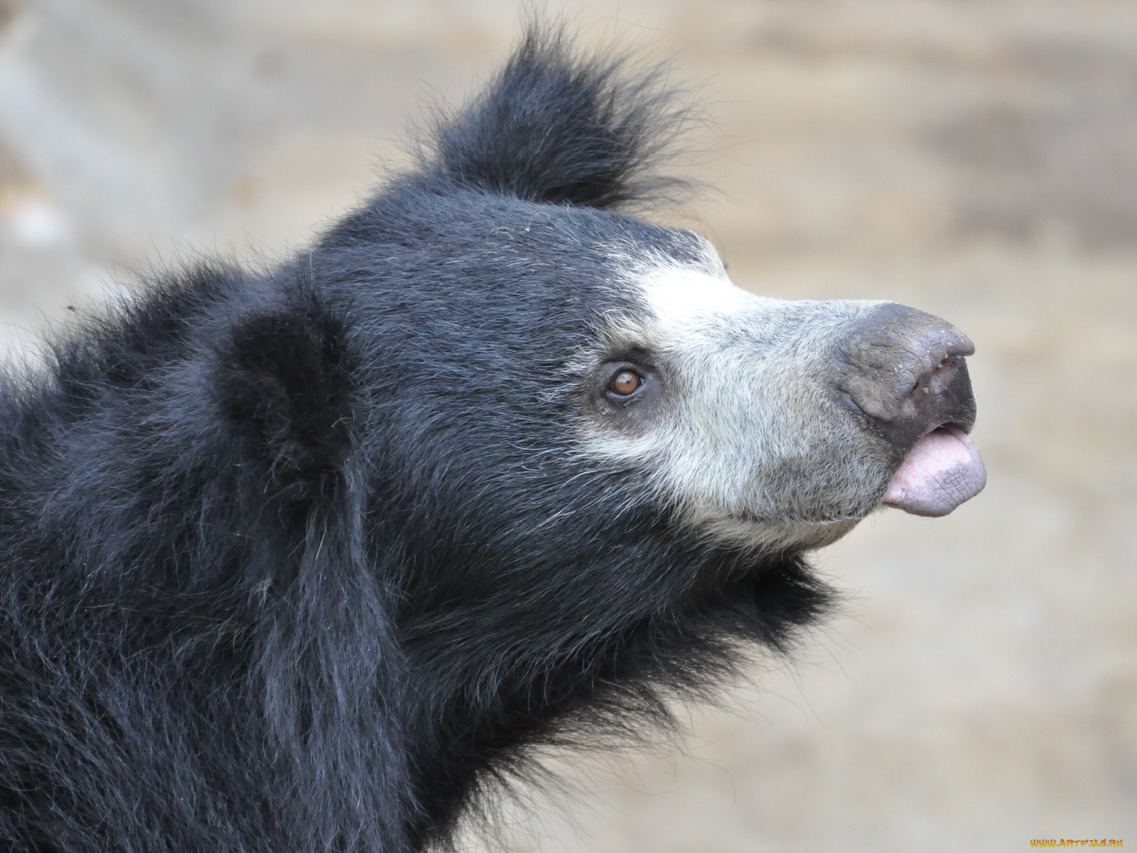
<svg viewBox="0 0 1137 853"><path fill-rule="evenodd" d="M351 440L348 361L342 329L315 300L233 325L217 359L221 407L279 483L340 470Z"/></svg>

